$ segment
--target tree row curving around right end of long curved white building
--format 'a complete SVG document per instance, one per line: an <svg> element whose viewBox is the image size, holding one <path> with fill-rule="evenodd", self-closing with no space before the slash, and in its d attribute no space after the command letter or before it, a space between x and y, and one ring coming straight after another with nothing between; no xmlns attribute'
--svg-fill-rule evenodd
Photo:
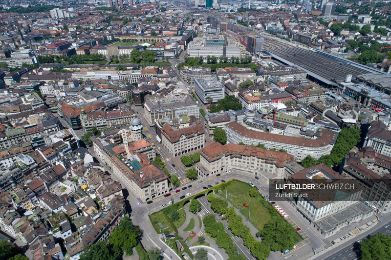
<svg viewBox="0 0 391 260"><path fill-rule="evenodd" d="M340 164L350 149L360 141L360 133L361 130L355 127L343 128L329 155L323 155L318 160L308 155L302 160L301 164L305 168L319 163L325 163L328 167Z"/></svg>

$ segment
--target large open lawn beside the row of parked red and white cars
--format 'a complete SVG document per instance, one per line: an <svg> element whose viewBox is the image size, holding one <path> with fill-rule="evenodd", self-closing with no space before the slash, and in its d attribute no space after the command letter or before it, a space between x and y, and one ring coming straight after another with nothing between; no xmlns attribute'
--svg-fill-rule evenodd
<svg viewBox="0 0 391 260"><path fill-rule="evenodd" d="M271 219L269 211L262 205L261 197L252 198L249 196L249 191L252 187L250 184L234 180L226 189L222 190L220 196L225 199L227 191L227 200L230 201L235 208L237 208L245 218L250 212L250 222L261 230L263 226ZM243 203L246 203L244 207Z"/></svg>

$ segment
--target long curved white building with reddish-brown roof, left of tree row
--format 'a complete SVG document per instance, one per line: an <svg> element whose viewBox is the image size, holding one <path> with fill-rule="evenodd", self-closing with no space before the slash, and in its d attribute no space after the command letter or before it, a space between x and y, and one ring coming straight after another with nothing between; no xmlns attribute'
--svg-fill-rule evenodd
<svg viewBox="0 0 391 260"><path fill-rule="evenodd" d="M230 143L243 142L246 145L263 144L267 149L284 149L293 155L297 161L302 161L310 155L319 159L322 155L330 154L338 133L329 129L320 129L318 139L304 139L278 134L270 134L252 131L237 122L229 122L223 129L227 133L227 141Z"/></svg>

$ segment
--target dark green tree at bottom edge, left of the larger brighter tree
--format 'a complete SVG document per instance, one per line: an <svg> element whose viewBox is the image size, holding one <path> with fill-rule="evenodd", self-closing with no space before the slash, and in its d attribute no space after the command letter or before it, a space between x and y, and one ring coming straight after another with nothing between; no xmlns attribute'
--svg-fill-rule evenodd
<svg viewBox="0 0 391 260"><path fill-rule="evenodd" d="M118 246L113 246L100 241L91 244L83 249L80 260L120 260L122 259L122 251Z"/></svg>

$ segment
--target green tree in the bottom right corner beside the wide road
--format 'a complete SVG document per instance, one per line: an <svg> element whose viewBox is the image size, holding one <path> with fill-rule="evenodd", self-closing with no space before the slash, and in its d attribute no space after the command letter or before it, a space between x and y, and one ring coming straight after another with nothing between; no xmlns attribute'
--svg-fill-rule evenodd
<svg viewBox="0 0 391 260"><path fill-rule="evenodd" d="M361 242L360 251L363 260L389 259L391 238L383 233L377 233Z"/></svg>

